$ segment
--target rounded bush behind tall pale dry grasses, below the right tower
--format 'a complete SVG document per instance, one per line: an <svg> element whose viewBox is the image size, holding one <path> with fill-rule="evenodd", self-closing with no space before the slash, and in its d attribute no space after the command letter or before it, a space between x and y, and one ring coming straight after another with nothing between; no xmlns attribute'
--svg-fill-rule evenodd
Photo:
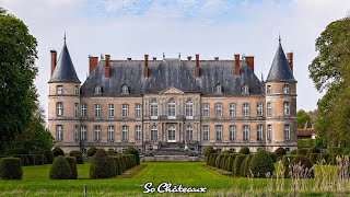
<svg viewBox="0 0 350 197"><path fill-rule="evenodd" d="M306 177L313 177L313 164L303 154L298 154L289 164L289 175L290 177L300 177L300 178L306 178Z"/></svg>

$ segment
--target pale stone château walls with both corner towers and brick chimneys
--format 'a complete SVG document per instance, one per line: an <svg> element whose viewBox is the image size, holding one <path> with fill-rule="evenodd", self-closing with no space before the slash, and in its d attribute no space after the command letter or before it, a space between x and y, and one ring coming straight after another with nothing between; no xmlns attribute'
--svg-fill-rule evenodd
<svg viewBox="0 0 350 197"><path fill-rule="evenodd" d="M67 49L66 43L65 47ZM68 50L62 49L62 53ZM63 57L67 55L61 54L57 66L52 65L56 63L56 59L51 60L54 71L49 81L48 129L57 141L56 146L66 152L85 150L92 146L116 149L120 152L128 146L148 151L161 149L166 144L178 144L182 149L195 151L202 151L209 146L219 150L234 151L247 146L253 152L258 149L275 151L278 147L288 150L296 148L295 80L276 78L271 80L271 77L268 77L266 82L258 81L256 88L258 93L254 93L250 85L253 83L249 82L238 86L240 93L226 93L221 89L228 90L230 86L218 88L220 83L212 83L215 84L210 86L213 93L203 93L203 86L200 85L198 91L182 90L182 84L167 85L161 91L144 89L142 93L135 93L133 84L126 85L128 82L125 82L118 86L121 93L105 94L109 90L104 84L108 78L113 78L114 72L118 71L115 68L118 68L119 62L112 61L109 56L106 56L106 60L101 60L98 63L95 57L91 57L89 65L91 77L81 85L78 78L66 79L62 73L57 73L67 67L72 67L72 63L65 65L66 61L61 59ZM56 58L52 51L51 58ZM196 61L186 61L196 62L192 69L196 76L192 78L194 83L203 84L198 78L201 74L198 67L202 65L198 59L199 56L196 57ZM127 63L130 61L133 60ZM161 61L163 62L159 62L156 68L162 67L164 61L172 63L174 59ZM182 62L180 59L177 61ZM143 61L136 62L142 65ZM228 62L230 63L225 61ZM291 63L292 59L288 59L288 62ZM148 79L154 73L152 68L155 66L152 63L155 62L150 61L149 66L147 56L144 68L140 71L142 79ZM190 65L186 67L191 69ZM149 68L151 70L148 70ZM292 68L292 65L288 68ZM98 71L95 71L97 69L104 71L100 73L104 83L96 81L91 83L93 86L89 86L94 76L98 76ZM240 74L244 74L244 69L249 69L248 71L254 74L254 58L248 57L246 62L243 57L238 62L237 59L232 60L232 68L228 71L243 80ZM271 70L273 71L273 68ZM256 78L255 74L254 77ZM124 78L128 81L128 76L124 74ZM86 93L90 89L92 94Z"/></svg>

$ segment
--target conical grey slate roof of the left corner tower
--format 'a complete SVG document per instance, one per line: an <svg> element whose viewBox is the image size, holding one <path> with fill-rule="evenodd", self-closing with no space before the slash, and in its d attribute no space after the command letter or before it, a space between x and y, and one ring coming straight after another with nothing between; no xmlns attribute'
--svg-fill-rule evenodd
<svg viewBox="0 0 350 197"><path fill-rule="evenodd" d="M51 79L48 81L51 82L75 82L80 83L77 76L73 62L70 58L66 40L62 47L61 54L59 56L58 62L54 70Z"/></svg>

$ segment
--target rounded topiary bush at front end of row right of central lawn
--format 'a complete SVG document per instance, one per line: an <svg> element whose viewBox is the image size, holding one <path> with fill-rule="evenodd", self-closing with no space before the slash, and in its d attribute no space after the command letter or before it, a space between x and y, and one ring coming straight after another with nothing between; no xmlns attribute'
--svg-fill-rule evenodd
<svg viewBox="0 0 350 197"><path fill-rule="evenodd" d="M272 175L275 165L269 153L265 150L259 150L252 158L249 169L254 177L266 177L267 173Z"/></svg>

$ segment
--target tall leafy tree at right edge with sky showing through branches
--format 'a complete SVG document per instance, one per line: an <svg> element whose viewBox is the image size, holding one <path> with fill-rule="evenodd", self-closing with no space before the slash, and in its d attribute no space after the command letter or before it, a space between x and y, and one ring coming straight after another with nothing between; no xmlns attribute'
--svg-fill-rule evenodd
<svg viewBox="0 0 350 197"><path fill-rule="evenodd" d="M319 92L315 123L318 140L326 144L350 143L350 18L331 22L316 39L317 57L308 66Z"/></svg>

